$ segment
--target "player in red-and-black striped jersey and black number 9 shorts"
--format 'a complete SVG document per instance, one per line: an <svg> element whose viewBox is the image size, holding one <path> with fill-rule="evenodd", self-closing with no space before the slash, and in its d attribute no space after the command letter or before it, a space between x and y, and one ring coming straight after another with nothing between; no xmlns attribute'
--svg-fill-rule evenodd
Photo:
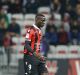
<svg viewBox="0 0 80 75"><path fill-rule="evenodd" d="M24 47L25 75L48 75L45 66L45 58L40 55L41 30L44 26L45 17L37 14L35 24L27 28Z"/></svg>

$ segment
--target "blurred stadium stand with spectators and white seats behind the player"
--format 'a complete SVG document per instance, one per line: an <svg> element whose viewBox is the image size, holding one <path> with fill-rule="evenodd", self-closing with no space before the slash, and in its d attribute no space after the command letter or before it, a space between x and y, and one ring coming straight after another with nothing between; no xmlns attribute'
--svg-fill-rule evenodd
<svg viewBox="0 0 80 75"><path fill-rule="evenodd" d="M41 53L49 75L80 75L80 0L0 0L0 75L24 75L26 25L46 17Z"/></svg>

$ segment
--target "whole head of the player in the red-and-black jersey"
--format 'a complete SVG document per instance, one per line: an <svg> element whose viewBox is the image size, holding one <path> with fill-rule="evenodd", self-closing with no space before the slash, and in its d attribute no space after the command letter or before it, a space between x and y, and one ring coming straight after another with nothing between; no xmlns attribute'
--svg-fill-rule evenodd
<svg viewBox="0 0 80 75"><path fill-rule="evenodd" d="M40 28L45 24L45 16L43 14L37 14L35 17L35 23Z"/></svg>

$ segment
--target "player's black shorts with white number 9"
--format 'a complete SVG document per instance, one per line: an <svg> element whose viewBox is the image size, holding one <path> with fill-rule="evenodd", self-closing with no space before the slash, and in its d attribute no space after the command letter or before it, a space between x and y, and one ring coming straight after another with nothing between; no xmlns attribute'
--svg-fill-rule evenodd
<svg viewBox="0 0 80 75"><path fill-rule="evenodd" d="M34 55L24 55L25 75L41 75L48 72L45 63L38 60Z"/></svg>

